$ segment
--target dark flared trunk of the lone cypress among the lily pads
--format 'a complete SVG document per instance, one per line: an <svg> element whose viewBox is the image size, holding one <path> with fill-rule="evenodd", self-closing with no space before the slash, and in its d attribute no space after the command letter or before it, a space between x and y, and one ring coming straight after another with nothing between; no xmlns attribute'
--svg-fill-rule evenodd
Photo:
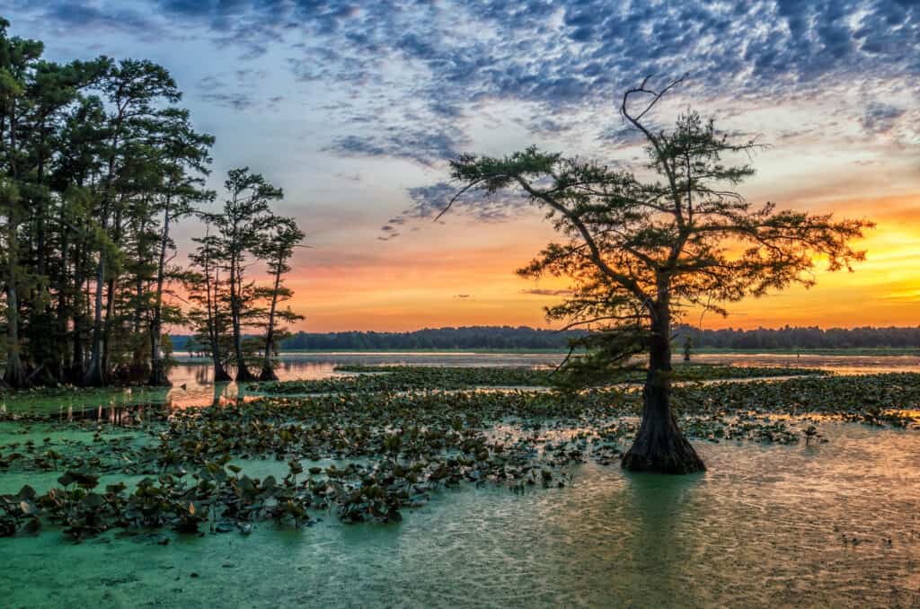
<svg viewBox="0 0 920 609"><path fill-rule="evenodd" d="M703 460L677 427L671 409L671 310L665 294L654 307L649 373L642 390L642 422L620 464L633 472L692 474L706 470Z"/></svg>

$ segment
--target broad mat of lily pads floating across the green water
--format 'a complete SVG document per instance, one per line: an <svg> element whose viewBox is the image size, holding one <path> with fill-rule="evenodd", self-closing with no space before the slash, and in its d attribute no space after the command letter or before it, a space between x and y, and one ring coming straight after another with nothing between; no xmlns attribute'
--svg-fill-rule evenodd
<svg viewBox="0 0 920 609"><path fill-rule="evenodd" d="M456 378L539 373L466 370L472 376ZM436 374L416 373L387 374L399 389ZM444 488L558 488L585 462L617 465L640 412L638 391L628 388L407 393L392 385L148 408L143 416L129 411L124 426L7 415L0 471L45 480L53 473L53 481L42 492L27 484L0 497L0 534L47 525L75 540L111 528L246 534L259 521L300 528L330 515L343 523L397 522ZM692 439L822 442L822 421L832 418L915 427L920 374L691 383L675 387L674 405ZM274 473L247 474L240 464L253 460L277 464ZM127 478L101 480L117 475Z"/></svg>

